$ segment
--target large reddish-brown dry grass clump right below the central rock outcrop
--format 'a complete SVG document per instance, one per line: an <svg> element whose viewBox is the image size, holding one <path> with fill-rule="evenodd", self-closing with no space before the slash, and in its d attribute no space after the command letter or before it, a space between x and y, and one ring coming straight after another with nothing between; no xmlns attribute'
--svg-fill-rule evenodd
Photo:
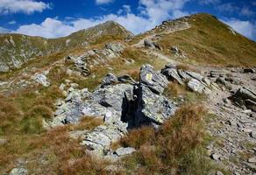
<svg viewBox="0 0 256 175"><path fill-rule="evenodd" d="M207 174L213 167L202 148L205 115L203 107L188 104L160 130L143 127L132 131L121 144L139 151L124 159L125 167L140 174Z"/></svg>

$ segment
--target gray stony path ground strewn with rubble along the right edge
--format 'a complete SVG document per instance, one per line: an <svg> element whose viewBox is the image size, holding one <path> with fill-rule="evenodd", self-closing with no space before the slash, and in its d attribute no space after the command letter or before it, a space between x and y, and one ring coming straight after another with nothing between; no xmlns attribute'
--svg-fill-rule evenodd
<svg viewBox="0 0 256 175"><path fill-rule="evenodd" d="M217 164L222 165L232 174L255 174L255 113L233 105L228 98L242 86L255 92L256 74L244 73L243 69L225 69L225 71L227 74L224 76L232 80L229 84L231 90L222 88L213 91L206 103L212 114L206 130L214 138L207 147L208 153ZM212 80L214 79L216 78Z"/></svg>

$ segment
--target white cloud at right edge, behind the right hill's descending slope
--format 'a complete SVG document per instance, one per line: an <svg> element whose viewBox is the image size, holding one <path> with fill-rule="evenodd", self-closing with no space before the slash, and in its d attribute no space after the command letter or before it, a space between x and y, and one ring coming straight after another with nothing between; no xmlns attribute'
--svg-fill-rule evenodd
<svg viewBox="0 0 256 175"><path fill-rule="evenodd" d="M223 20L224 23L230 25L235 31L243 34L247 38L256 39L256 24L251 23L250 21L242 21L236 18L231 20Z"/></svg>

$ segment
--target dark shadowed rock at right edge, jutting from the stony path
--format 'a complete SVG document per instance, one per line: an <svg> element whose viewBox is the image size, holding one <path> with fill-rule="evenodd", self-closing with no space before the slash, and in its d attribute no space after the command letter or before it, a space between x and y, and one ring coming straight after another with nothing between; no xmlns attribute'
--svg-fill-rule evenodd
<svg viewBox="0 0 256 175"><path fill-rule="evenodd" d="M256 112L256 94L248 88L239 88L231 96L231 100L241 108L251 109Z"/></svg>

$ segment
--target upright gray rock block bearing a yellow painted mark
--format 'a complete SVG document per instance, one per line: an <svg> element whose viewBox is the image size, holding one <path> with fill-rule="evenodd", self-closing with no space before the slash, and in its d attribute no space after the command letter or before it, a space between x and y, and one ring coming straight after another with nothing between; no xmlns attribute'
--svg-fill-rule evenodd
<svg viewBox="0 0 256 175"><path fill-rule="evenodd" d="M163 74L154 71L153 66L143 65L140 68L140 83L160 95L167 88L168 81Z"/></svg>

